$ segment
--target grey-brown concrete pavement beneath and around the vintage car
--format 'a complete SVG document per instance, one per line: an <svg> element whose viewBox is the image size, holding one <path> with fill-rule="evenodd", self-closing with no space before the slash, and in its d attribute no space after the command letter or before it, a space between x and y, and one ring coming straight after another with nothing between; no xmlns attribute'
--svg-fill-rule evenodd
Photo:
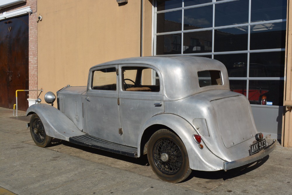
<svg viewBox="0 0 292 195"><path fill-rule="evenodd" d="M182 183L163 182L147 157L131 158L53 139L37 147L19 111L0 108L0 194L292 194L292 148L277 145L249 166L193 171Z"/></svg>

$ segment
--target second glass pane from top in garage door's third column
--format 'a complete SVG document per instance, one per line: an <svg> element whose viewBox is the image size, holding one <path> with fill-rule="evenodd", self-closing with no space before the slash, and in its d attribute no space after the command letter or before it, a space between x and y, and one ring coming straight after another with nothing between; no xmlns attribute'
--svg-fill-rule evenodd
<svg viewBox="0 0 292 195"><path fill-rule="evenodd" d="M248 27L215 30L214 52L247 50Z"/></svg>

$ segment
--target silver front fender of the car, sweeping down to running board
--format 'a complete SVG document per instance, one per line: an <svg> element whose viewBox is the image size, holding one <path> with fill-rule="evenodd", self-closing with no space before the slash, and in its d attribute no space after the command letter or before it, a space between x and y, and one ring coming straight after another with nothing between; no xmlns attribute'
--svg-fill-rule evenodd
<svg viewBox="0 0 292 195"><path fill-rule="evenodd" d="M37 114L48 136L69 141L69 137L85 135L60 110L48 104L34 104L26 111L26 116Z"/></svg>

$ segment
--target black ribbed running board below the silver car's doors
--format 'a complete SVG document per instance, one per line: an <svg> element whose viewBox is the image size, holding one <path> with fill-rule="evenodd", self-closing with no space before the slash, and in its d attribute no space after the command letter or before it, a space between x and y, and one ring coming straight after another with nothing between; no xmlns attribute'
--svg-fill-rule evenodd
<svg viewBox="0 0 292 195"><path fill-rule="evenodd" d="M101 140L91 135L70 137L69 142L137 158L138 149Z"/></svg>

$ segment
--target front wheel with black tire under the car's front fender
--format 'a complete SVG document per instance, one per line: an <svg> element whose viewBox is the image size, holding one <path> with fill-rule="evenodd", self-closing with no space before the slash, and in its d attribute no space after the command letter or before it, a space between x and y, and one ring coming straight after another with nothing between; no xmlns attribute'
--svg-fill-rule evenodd
<svg viewBox="0 0 292 195"><path fill-rule="evenodd" d="M44 148L51 143L52 137L46 135L44 125L37 114L33 114L30 118L29 129L37 146Z"/></svg>

